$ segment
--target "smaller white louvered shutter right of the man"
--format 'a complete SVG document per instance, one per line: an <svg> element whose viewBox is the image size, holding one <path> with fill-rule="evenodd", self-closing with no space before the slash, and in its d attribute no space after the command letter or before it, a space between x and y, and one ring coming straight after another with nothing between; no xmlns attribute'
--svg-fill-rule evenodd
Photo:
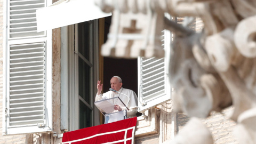
<svg viewBox="0 0 256 144"><path fill-rule="evenodd" d="M172 87L169 83L169 55L171 33L163 30L163 49L165 57L138 58L138 106L145 111L171 99Z"/></svg>

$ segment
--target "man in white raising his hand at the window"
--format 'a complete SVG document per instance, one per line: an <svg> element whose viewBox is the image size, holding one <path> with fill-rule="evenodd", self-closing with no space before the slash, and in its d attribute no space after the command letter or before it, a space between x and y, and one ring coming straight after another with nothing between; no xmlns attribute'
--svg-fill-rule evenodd
<svg viewBox="0 0 256 144"><path fill-rule="evenodd" d="M130 97L130 102L127 105L127 108L129 108L129 110L127 110L127 117L129 117L129 118L135 117L138 112L138 108L137 108L138 97L137 97L136 93L132 90L124 89L122 87L122 85L123 85L122 79L119 76L113 76L110 79L110 85L111 85L111 89L118 91L120 93L126 94ZM129 98L127 98L125 95L114 92L114 91L108 91L106 93L101 94L102 86L103 86L103 84L101 84L101 81L98 81L98 83L97 83L98 93L96 94L95 101L99 101L103 98L109 99L109 98L114 98L114 97L119 97L125 104L129 101ZM115 111L113 111L113 113L115 113L117 111L125 110L125 107L115 105L114 109L115 109ZM111 121L111 119L110 119L110 122L114 122L114 121Z"/></svg>

